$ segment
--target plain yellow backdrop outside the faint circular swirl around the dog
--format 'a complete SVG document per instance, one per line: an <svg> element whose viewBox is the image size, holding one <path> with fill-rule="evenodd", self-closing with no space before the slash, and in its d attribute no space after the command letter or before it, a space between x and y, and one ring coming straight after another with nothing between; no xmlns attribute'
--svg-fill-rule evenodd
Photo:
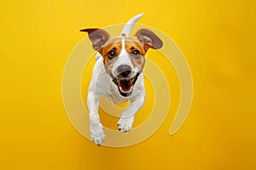
<svg viewBox="0 0 256 170"><path fill-rule="evenodd" d="M256 169L253 1L4 1L0 169ZM143 143L96 147L67 119L61 77L84 27L141 24L177 42L194 78L183 127Z"/></svg>

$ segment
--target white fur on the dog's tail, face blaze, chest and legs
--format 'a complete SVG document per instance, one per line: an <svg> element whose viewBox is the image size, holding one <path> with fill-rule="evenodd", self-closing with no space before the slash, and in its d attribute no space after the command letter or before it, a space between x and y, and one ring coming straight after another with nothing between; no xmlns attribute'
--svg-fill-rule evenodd
<svg viewBox="0 0 256 170"><path fill-rule="evenodd" d="M142 14L137 15L133 18L133 20L131 19L128 21L123 31L126 36L129 36L130 34L131 25L133 26L134 23L141 17ZM133 73L132 77L137 74L138 69L133 67L131 59L125 50L125 37L122 40L121 53L113 65L113 75L115 75L114 71L119 65L130 65L131 72ZM106 72L103 65L102 55L99 53L96 54L96 65L93 69L87 96L87 106L90 112L90 136L96 144L102 144L105 138L103 126L100 122L100 116L98 114L99 100L103 95L113 103L124 103L127 100L131 101L131 104L127 107L126 111L122 114L118 122L118 128L121 133L130 131L134 116L137 111L141 109L145 100L143 73L137 77L137 82L133 86L132 94L128 97L123 97L121 94L119 94L118 87L116 84L114 84L112 78Z"/></svg>

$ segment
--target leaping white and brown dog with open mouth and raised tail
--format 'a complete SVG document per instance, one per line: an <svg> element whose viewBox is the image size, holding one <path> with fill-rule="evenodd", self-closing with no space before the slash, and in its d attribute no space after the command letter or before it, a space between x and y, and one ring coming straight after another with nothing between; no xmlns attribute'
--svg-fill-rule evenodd
<svg viewBox="0 0 256 170"><path fill-rule="evenodd" d="M129 20L119 37L110 37L108 31L102 29L80 30L88 32L92 48L97 52L96 65L88 89L87 106L90 112L90 137L98 145L105 139L98 114L102 96L106 96L113 103L131 101L118 122L121 133L131 130L135 114L144 105L145 54L149 48L161 48L163 42L148 29L140 29L134 37L129 37L131 28L142 16L143 14L138 14Z"/></svg>

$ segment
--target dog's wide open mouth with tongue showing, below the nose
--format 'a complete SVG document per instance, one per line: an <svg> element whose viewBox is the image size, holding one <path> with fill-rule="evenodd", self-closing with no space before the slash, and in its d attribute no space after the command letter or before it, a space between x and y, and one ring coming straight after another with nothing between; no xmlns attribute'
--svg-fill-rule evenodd
<svg viewBox="0 0 256 170"><path fill-rule="evenodd" d="M131 78L114 77L113 82L119 88L119 94L121 94L124 97L130 96L138 76L139 76L139 73L137 73L135 77L131 77Z"/></svg>

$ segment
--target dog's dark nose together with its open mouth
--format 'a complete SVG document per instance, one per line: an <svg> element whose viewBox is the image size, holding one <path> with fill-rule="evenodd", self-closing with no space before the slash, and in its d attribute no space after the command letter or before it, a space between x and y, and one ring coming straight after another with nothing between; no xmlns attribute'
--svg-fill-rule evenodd
<svg viewBox="0 0 256 170"><path fill-rule="evenodd" d="M113 82L119 88L119 94L128 97L132 93L132 88L140 75L138 72L134 77L131 77L131 67L129 65L120 65L117 68L118 76L113 77Z"/></svg>

